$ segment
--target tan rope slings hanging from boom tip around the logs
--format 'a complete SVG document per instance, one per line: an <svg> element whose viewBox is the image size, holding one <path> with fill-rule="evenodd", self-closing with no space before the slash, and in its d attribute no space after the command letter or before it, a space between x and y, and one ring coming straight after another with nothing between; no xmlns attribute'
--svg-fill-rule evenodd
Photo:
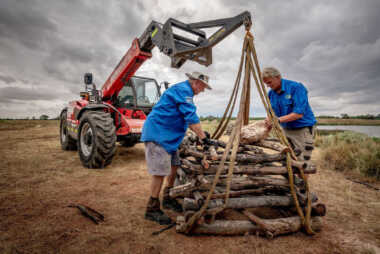
<svg viewBox="0 0 380 254"><path fill-rule="evenodd" d="M294 204L296 206L297 213L301 218L301 222L302 222L303 227L306 230L306 233L313 235L315 233L311 228L311 222L310 222L310 219L311 219L311 194L309 191L309 184L307 182L307 178L305 177L303 169L300 169L300 175L301 175L301 178L305 182L306 193L307 193L307 208L306 208L306 216L305 216L304 212L302 211L302 209L300 207L300 204L299 204L299 201L297 198L296 190L294 187L294 180L293 180L293 169L291 166L291 160L292 159L297 160L297 157L295 156L293 150L291 149L291 146L289 145L289 142L285 136L284 130L281 128L281 126L278 122L278 119L277 119L277 117L276 117L276 115L272 109L272 106L270 104L270 100L268 98L266 88L265 88L264 82L263 82L262 77L261 77L261 71L260 71L260 67L259 67L259 63L258 63L255 45L253 42L253 36L250 33L249 29L250 28L247 28L247 31L246 31L246 34L244 37L242 54L241 54L241 58L240 58L240 65L239 65L238 74L236 76L235 85L234 85L232 94L230 96L230 99L229 99L228 105L226 107L226 110L223 114L223 117L222 117L221 121L219 122L219 125L217 126L215 132L213 133L212 138L213 139L219 139L222 136L222 134L224 133L224 131L228 125L228 122L231 119L232 112L235 108L236 99L238 96L238 91L239 91L239 87L240 87L240 83L241 83L240 81L241 81L241 76L242 76L241 74L243 72L243 66L244 66L244 78L243 78L243 87L242 87L242 91L240 94L239 111L238 111L238 115L237 115L234 127L232 129L232 133L231 133L229 140L228 140L228 143L225 147L222 159L218 165L217 172L215 174L211 188L208 192L208 195L207 195L207 198L206 198L204 204L202 205L202 207L200 208L199 211L194 213L186 221L186 223L184 223L181 226L181 228L177 229L177 230L180 232L184 232L184 233L190 233L192 228L196 224L195 222L198 221L198 219L200 219L206 212L207 212L207 214L211 214L212 220L214 220L215 215L220 213L221 211L223 211L227 207L227 204L229 201L229 196L230 196L231 179L232 179L232 175L233 175L234 163L236 160L236 154L237 154L237 150L238 150L239 143L240 143L241 128L243 125L247 125L249 122L249 107L250 107L250 94L251 94L250 89L251 89L251 74L252 74L252 77L255 80L257 90L260 94L260 98L264 104L264 107L265 107L265 110L267 113L267 117L268 117L269 121L272 122L273 131L274 131L275 135L279 138L281 144L283 144L289 148L288 152L286 153L286 166L287 166L287 171L288 171L288 180L289 180L291 195L294 199ZM253 58L253 60L252 60L252 58ZM231 148L232 148L232 151L231 151ZM230 154L230 151L231 151L231 155L229 158L230 161L229 161L228 174L227 174L226 195L224 198L224 204L223 204L223 206L220 206L217 208L207 209L208 204L209 204L210 199L211 199L211 196L214 193L214 190L215 190L217 183L219 182L219 177L223 171L225 162L227 160L227 156Z"/></svg>

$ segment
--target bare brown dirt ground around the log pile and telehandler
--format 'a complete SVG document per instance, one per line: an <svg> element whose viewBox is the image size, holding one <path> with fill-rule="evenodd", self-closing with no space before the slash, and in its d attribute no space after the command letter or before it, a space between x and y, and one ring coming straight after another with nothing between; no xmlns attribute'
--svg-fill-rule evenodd
<svg viewBox="0 0 380 254"><path fill-rule="evenodd" d="M0 253L380 253L380 191L326 169L310 177L327 206L315 236L186 236L174 228L152 236L162 226L144 219L142 144L118 147L106 169L87 169L77 152L61 150L57 121L29 122L0 123ZM105 222L95 225L71 203Z"/></svg>

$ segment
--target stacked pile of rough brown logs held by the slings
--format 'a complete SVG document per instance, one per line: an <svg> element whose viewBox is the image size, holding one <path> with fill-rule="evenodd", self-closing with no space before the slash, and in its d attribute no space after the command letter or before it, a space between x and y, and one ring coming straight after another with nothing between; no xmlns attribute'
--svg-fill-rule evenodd
<svg viewBox="0 0 380 254"><path fill-rule="evenodd" d="M183 207L183 214L177 217L178 232L183 232L183 225L202 207L209 195L226 147L226 144L220 140L213 141L216 145L203 151L197 138L189 134L180 147L181 166L177 171L175 186L169 193L172 198L181 202ZM233 165L233 176L228 190L229 200L225 210L217 215L214 212L224 206L228 159L222 168L214 192L210 194L211 199L204 216L197 220L191 233L216 235L254 233L273 237L299 231L302 223L297 216L287 179L287 149L279 142L269 139L250 145L240 144ZM292 161L291 164L295 174L301 169L305 174L316 173L316 168L305 162ZM307 204L305 185L297 176L295 176L295 188L298 201L305 210ZM326 212L325 206L317 201L317 196L313 194L311 226L314 231L321 229L320 216L324 216ZM276 218L266 216L267 218L263 219L252 212L262 208L275 209L280 216ZM228 215L228 211L238 213L246 220L220 218L222 215Z"/></svg>

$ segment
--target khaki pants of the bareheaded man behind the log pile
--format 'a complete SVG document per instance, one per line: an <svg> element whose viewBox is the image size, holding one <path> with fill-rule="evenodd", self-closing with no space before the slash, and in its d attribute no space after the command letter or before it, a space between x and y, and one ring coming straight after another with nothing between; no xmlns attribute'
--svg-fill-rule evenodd
<svg viewBox="0 0 380 254"><path fill-rule="evenodd" d="M299 149L298 160L308 161L314 149L314 126L300 129L284 129L293 149Z"/></svg>

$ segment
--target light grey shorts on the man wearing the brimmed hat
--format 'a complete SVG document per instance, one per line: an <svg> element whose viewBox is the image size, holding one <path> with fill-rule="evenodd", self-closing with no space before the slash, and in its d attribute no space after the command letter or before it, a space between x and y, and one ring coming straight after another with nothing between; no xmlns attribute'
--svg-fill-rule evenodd
<svg viewBox="0 0 380 254"><path fill-rule="evenodd" d="M178 150L172 155L155 142L145 142L145 160L148 172L155 176L167 176L171 173L171 166L179 166Z"/></svg>

